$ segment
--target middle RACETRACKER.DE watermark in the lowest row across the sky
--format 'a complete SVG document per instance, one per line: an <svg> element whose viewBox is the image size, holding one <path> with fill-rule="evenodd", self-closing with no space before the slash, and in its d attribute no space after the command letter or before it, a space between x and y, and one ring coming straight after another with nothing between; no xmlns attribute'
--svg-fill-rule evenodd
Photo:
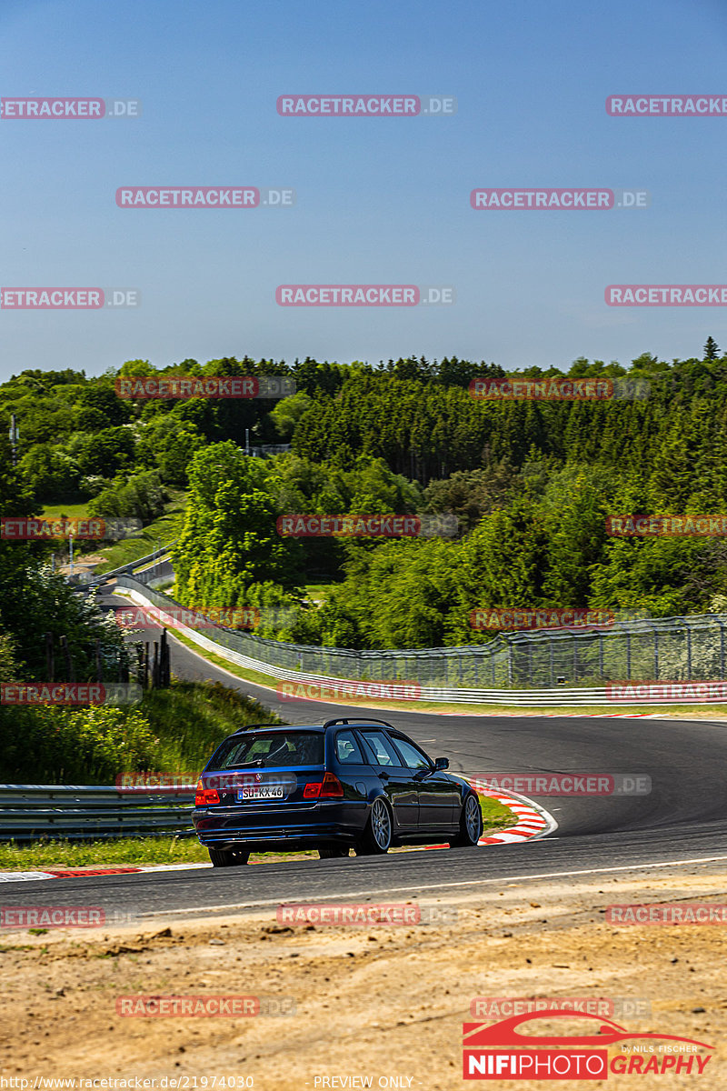
<svg viewBox="0 0 727 1091"><path fill-rule="evenodd" d="M451 307L452 285L415 284L281 284L279 307Z"/></svg>

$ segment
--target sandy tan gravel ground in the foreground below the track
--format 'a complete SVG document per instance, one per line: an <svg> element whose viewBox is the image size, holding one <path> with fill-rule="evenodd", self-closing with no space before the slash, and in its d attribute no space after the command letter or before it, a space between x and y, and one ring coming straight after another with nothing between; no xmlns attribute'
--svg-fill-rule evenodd
<svg viewBox="0 0 727 1091"><path fill-rule="evenodd" d="M644 1002L651 1014L617 1014L615 1021L629 1031L684 1035L716 1047L701 1077L610 1075L608 1087L651 1091L658 1081L717 1091L727 1086L727 925L616 927L605 922L604 910L613 902L727 902L727 872L647 874L645 880L619 874L595 884L504 882L476 899L422 901L440 912L457 910L446 926L287 928L274 913L258 913L160 919L116 932L5 932L0 1071L31 1080L156 1077L161 1088L180 1076L186 1080L181 1088L194 1088L195 1078L197 1088L203 1077L211 1088L213 1077L252 1077L249 1086L271 1091L360 1087L322 1082L356 1076L371 1077L374 1088L439 1091L465 1086L462 1022L473 1020L474 997L559 996ZM255 995L274 1008L294 1004L295 1014L117 1015L117 997L138 994ZM577 1024L569 1030L582 1033Z"/></svg>

